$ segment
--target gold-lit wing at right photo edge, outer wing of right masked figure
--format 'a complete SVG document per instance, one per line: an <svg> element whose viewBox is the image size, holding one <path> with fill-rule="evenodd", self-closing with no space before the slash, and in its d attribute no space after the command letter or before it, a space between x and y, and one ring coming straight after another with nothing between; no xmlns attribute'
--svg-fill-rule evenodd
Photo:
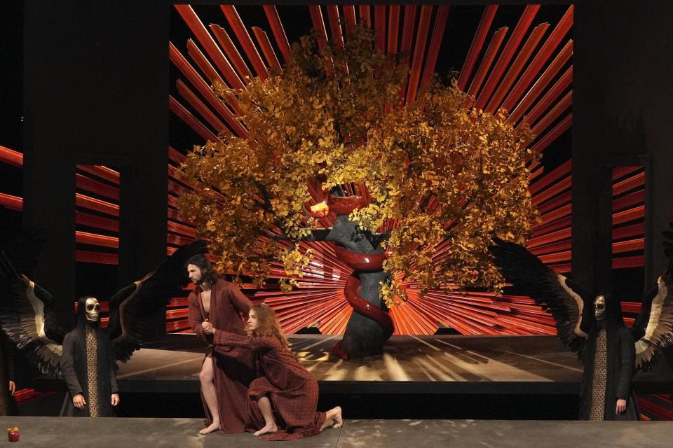
<svg viewBox="0 0 673 448"><path fill-rule="evenodd" d="M662 349L673 343L673 279L662 275L657 285L656 293L648 293L644 298L632 328L632 334L641 334L638 339L634 337L636 369L651 368Z"/></svg>

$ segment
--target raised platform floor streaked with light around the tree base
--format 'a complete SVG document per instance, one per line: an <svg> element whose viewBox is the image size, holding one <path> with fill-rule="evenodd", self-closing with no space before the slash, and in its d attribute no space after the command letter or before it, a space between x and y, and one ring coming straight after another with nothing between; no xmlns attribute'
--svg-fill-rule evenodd
<svg viewBox="0 0 673 448"><path fill-rule="evenodd" d="M383 356L344 361L339 336L292 335L292 351L322 393L578 393L582 365L554 336L393 336ZM198 392L204 345L166 335L137 351L117 377L122 391ZM670 393L673 372L642 372L639 393ZM402 387L400 387L402 386Z"/></svg>

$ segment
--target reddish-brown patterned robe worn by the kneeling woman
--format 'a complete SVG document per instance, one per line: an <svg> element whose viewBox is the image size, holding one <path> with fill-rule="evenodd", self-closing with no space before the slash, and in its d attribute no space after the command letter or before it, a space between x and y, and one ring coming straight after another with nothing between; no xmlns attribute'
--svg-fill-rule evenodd
<svg viewBox="0 0 673 448"><path fill-rule="evenodd" d="M299 363L292 351L276 337L247 337L215 331L217 346L254 349L257 379L248 391L250 426L254 432L264 427L264 417L257 407L260 395L268 395L276 416L278 432L266 440L294 440L320 433L325 412L318 412L318 381Z"/></svg>

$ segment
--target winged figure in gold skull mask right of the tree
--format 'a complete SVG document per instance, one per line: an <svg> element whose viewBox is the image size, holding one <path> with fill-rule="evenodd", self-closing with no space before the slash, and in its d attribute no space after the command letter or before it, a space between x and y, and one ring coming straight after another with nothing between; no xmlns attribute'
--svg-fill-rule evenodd
<svg viewBox="0 0 673 448"><path fill-rule="evenodd" d="M559 339L583 362L580 419L638 419L632 376L653 367L673 342L671 264L645 295L628 329L616 298L590 295L519 244L497 237L494 243L489 250L505 280L552 314Z"/></svg>

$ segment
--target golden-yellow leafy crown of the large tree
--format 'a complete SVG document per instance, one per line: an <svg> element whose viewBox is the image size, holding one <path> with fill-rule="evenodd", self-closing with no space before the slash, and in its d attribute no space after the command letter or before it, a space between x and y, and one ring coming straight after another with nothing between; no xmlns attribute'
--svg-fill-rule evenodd
<svg viewBox="0 0 673 448"><path fill-rule="evenodd" d="M250 134L222 132L189 153L182 169L196 188L180 197L182 214L209 241L220 270L261 283L275 260L287 290L311 253L273 235L312 238L308 182L318 179L325 191L362 183L374 202L351 220L372 233L388 218L398 223L382 243L391 253L384 269L418 282L421 293L453 284L498 290L492 235L523 243L536 218L526 169L531 132L503 112L469 109L455 82L435 81L404 105L407 67L374 50L374 40L358 27L344 47L318 50L305 36L283 73L254 78L243 91L216 85L223 99L236 96ZM392 279L381 295L388 305L405 298Z"/></svg>

